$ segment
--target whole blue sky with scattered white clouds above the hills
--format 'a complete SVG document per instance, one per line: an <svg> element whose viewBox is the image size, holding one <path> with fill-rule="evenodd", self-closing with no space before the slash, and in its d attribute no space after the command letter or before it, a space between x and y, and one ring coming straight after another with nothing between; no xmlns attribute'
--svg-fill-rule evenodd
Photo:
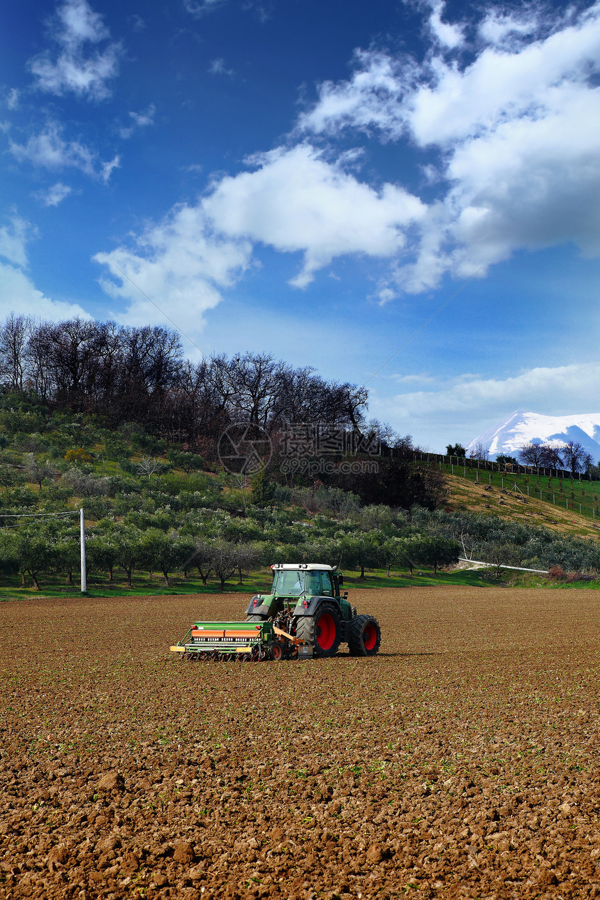
<svg viewBox="0 0 600 900"><path fill-rule="evenodd" d="M600 4L21 0L0 316L367 383L422 446L600 409Z"/></svg>

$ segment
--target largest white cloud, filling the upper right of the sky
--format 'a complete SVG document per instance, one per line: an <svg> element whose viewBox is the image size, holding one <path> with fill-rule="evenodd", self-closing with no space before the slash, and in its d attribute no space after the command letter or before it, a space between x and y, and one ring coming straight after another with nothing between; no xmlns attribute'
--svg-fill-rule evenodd
<svg viewBox="0 0 600 900"><path fill-rule="evenodd" d="M443 49L422 63L357 52L354 75L321 85L299 122L305 132L374 131L441 154L438 201L420 221L414 258L399 257L390 284L422 291L445 272L485 273L521 248L572 242L596 255L600 4L578 17L570 9L562 21L533 7L518 17L492 11L467 65L448 52L460 47L460 26L452 43L440 31L443 5L432 8L428 22Z"/></svg>

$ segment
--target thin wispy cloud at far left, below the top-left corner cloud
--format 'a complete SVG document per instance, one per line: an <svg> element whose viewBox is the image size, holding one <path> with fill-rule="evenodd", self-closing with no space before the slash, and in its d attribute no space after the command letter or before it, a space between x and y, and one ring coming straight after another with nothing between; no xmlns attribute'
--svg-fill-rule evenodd
<svg viewBox="0 0 600 900"><path fill-rule="evenodd" d="M32 135L25 144L10 141L10 151L19 162L47 169L76 168L94 178L108 181L119 157L103 162L90 148L78 140L65 140L58 122L49 121L44 130Z"/></svg>

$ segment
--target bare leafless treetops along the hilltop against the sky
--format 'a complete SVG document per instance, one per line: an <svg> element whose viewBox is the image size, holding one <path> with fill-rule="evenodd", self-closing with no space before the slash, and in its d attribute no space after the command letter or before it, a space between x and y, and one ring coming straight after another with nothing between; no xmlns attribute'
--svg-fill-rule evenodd
<svg viewBox="0 0 600 900"><path fill-rule="evenodd" d="M0 383L54 409L139 422L168 440L214 440L232 422L273 429L327 422L360 430L368 392L326 381L264 353L193 363L179 335L112 321L37 320L11 314L0 326Z"/></svg>

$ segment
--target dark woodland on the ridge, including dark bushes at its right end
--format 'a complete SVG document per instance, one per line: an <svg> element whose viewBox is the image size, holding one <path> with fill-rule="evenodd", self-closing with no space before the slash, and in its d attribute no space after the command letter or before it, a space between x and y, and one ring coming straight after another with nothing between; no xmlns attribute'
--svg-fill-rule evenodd
<svg viewBox="0 0 600 900"><path fill-rule="evenodd" d="M54 414L85 416L114 433L104 436L108 455L117 437L130 440L134 451L148 451L149 478L164 467L157 457L167 450L174 464L187 465L195 456L204 467L219 466L219 439L241 422L259 437L258 429L268 435L268 474L275 482L318 480L357 492L365 503L405 509L413 503L433 509L443 500L442 477L414 464L412 439L367 419L365 388L327 381L309 366L294 368L269 354L220 354L194 363L169 329L11 314L0 325L0 388L6 433L38 434L37 444L21 441L33 453L48 444L54 452L53 439L43 434ZM288 440L299 424L309 426L300 460L289 453ZM312 446L314 435L320 444ZM317 474L294 468L309 458L322 461L327 441L327 463L362 454L377 455L378 464L358 473L352 467L318 466ZM120 461L125 472L132 470L122 453Z"/></svg>

